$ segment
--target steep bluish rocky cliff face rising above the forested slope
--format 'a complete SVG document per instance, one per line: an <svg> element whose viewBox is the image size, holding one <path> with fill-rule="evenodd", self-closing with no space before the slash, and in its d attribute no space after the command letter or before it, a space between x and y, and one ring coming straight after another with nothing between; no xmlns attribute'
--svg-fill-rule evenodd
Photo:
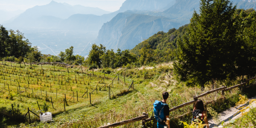
<svg viewBox="0 0 256 128"><path fill-rule="evenodd" d="M140 15L131 12L119 13L110 22L104 23L96 44L103 44L107 49L132 49L144 39L159 31L181 26L175 20L166 17Z"/></svg>

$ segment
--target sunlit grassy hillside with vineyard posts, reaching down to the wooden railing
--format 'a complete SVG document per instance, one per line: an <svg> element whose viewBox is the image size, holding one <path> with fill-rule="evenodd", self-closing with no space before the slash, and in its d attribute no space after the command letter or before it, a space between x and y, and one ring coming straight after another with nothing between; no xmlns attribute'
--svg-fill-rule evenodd
<svg viewBox="0 0 256 128"><path fill-rule="evenodd" d="M111 73L105 74L104 79L106 86L111 85L111 90L114 94L113 96L111 92L111 100L108 97L108 88L106 88L107 91L105 91L105 87L103 87L105 84L102 82L99 83L104 76L104 69L96 69L92 72L92 70L88 70L87 67L83 67L83 79L81 67L79 66L68 67L68 73L67 67L62 65L42 65L44 72L42 71L41 65L32 65L32 69L30 69L30 66L25 67L24 65L20 68L20 64L15 63L12 63L12 67L10 65L10 63L5 62L4 66L1 65L0 67L0 108L6 107L6 110L10 110L11 104L15 104L16 108L17 105L19 105L20 112L24 115L27 112L28 107L35 113L39 113L40 111L37 101L39 102L39 105L41 105L41 109L44 102L46 102L47 105L50 106L48 111L53 113L54 122L38 122L38 117L34 115L32 115L33 122L30 125L27 122L27 118L26 122L23 120L13 122L10 114L8 116L7 113L5 114L7 116L4 116L2 122L0 122L1 126L96 128L108 123L119 122L125 119L141 116L143 112L149 113L151 116L152 103L155 100L161 100L161 94L163 91L168 91L170 94L167 101L170 108L183 104L184 102L188 102L193 99L193 96L203 93L200 87L186 87L184 83L175 80L175 76L172 73L172 63L159 64L154 68L119 68L111 70ZM116 77L113 81L114 87L112 88L111 83L117 73L119 73L120 81L117 81ZM91 79L89 76L90 74L94 74L94 76L91 76ZM11 79L11 81L9 79ZM29 89L27 84L28 80ZM58 83L59 80L62 83L61 89ZM130 89L129 92L127 92L128 87L133 80L134 90ZM20 91L24 91L23 93L17 94L18 82L20 83ZM212 83L208 83L204 92L212 90L213 88L221 87L223 84L232 86L232 84L238 82L239 80L227 82L229 84L215 82L214 85L212 85ZM5 89L4 84L6 84ZM9 95L9 90L7 88L8 84L12 95ZM87 89L88 92L92 92L96 86L98 88L98 94L96 93L96 90L91 94L92 104L90 104L90 99L87 98L87 94L81 98ZM28 91L25 91L25 87ZM103 88L99 90L99 87ZM57 89L58 95L56 98ZM204 102L217 100L208 106L217 112L221 112L230 108L230 106L237 102L237 95L239 93L247 93L249 95L253 93L253 90L255 91L256 89L250 89L251 92L241 92L238 88L233 89L226 93L226 99L224 100L217 100L221 98L221 92L212 93L201 99ZM46 91L47 98L49 99L52 97L54 108L52 108L51 100L46 100ZM78 92L79 102L77 102L76 99L76 91ZM75 103L74 98L72 97L73 92L75 96ZM66 111L64 111L64 103L61 103L64 99L64 94L66 94L67 98ZM191 116L189 114L183 116L181 119L175 119L175 117L190 111L192 111L192 105L171 112L173 128L183 127L183 124L179 122L179 120L189 123L191 120ZM20 122L22 123L20 124ZM145 127L152 128L154 125L154 121L148 122ZM120 128L123 127L138 128L142 127L142 123L134 122L132 124L120 126Z"/></svg>

